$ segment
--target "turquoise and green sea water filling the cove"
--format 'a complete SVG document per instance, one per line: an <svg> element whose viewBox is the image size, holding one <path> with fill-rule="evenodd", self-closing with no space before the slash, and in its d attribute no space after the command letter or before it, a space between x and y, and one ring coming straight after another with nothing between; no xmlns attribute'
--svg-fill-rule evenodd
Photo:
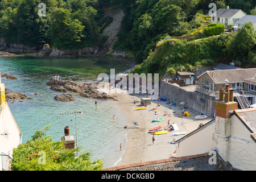
<svg viewBox="0 0 256 182"><path fill-rule="evenodd" d="M49 89L46 82L49 78L59 74L62 78L81 78L80 82L97 80L100 73L110 73L114 68L115 73L125 72L133 67L132 61L119 60L113 57L82 57L73 59L49 58L10 58L0 57L0 72L10 73L18 80L7 80L2 77L2 83L7 89L21 92L34 100L9 102L9 107L15 121L22 131L22 143L26 143L34 135L35 130L41 130L50 125L47 135L54 140L60 140L64 135L64 127L71 127L71 135L77 137L77 146L82 151L89 151L92 159L102 159L104 168L118 166L121 161L127 142L127 129L117 123L128 123L117 106L111 101L97 101L84 98L72 93L75 101L59 102L53 98L62 94ZM34 93L38 93L35 96ZM80 110L82 114L72 113ZM112 121L115 115L115 121ZM77 125L75 125L75 119ZM71 121L72 120L72 121ZM77 126L77 135L76 135ZM123 144L122 151L119 144Z"/></svg>

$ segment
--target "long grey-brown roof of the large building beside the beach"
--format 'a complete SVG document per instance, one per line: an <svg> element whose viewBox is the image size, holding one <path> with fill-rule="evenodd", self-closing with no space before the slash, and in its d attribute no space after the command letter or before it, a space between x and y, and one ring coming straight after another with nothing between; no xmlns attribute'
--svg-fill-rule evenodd
<svg viewBox="0 0 256 182"><path fill-rule="evenodd" d="M226 83L226 79L229 82L243 82L246 79L255 77L256 68L206 71L200 76L204 75L205 73L208 73L216 84Z"/></svg>

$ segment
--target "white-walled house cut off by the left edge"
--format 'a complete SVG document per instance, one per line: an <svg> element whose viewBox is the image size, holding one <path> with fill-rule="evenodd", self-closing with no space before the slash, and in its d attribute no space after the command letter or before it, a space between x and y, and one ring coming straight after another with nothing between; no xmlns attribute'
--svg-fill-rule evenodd
<svg viewBox="0 0 256 182"><path fill-rule="evenodd" d="M5 85L1 83L1 76L0 96L0 171L6 171L10 169L13 148L22 142L22 133L5 101Z"/></svg>

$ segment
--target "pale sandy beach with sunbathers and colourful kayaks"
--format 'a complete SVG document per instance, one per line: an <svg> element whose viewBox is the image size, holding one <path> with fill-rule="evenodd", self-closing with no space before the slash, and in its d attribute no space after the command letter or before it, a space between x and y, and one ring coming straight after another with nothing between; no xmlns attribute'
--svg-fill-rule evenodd
<svg viewBox="0 0 256 182"><path fill-rule="evenodd" d="M191 116L178 117L177 113L180 113L182 106L170 106L164 101L151 101L151 105L148 105L145 110L135 110L137 107L144 107L141 105L141 97L143 96L131 96L127 93L115 93L118 101L112 101L129 121L129 125L134 125L133 122L139 123L139 128L127 126L124 130L129 130L127 137L127 146L125 154L123 155L121 165L132 164L138 162L146 162L151 160L168 159L175 151L175 144L170 144L173 139L180 139L184 135L172 136L175 132L184 131L187 134L197 129L200 123L207 123L211 118L195 119L198 113L193 113L189 109L187 110ZM145 96L144 96L145 97ZM138 100L137 104L133 104L134 100ZM175 102L175 101L174 101ZM157 105L160 106L157 107ZM155 115L155 111L149 111L153 108L158 108L158 115ZM170 117L164 115L164 111L170 113ZM151 122L153 119L164 118L160 122ZM167 128L168 120L170 124L176 123L179 130L168 131L167 134L154 135L155 142L152 143L152 134L148 133L148 130L157 126L163 126L162 130ZM169 143L168 143L169 142Z"/></svg>

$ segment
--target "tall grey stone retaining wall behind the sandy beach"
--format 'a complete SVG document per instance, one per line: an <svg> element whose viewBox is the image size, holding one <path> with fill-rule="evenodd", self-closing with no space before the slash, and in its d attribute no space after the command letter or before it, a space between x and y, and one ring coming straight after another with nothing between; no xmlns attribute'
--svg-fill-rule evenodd
<svg viewBox="0 0 256 182"><path fill-rule="evenodd" d="M196 110L198 113L204 113L208 117L214 117L216 98L197 91L187 91L182 87L175 86L166 81L160 81L160 96L176 103L185 102L189 109ZM200 98L206 101L202 103Z"/></svg>

